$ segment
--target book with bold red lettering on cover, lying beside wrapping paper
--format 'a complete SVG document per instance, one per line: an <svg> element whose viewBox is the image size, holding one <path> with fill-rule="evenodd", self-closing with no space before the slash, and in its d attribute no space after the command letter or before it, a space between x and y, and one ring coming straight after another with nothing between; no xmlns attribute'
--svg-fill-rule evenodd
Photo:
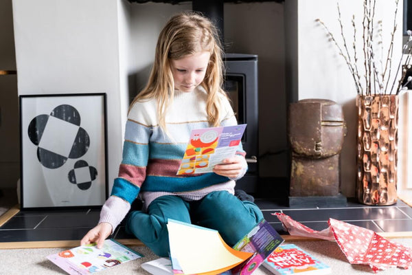
<svg viewBox="0 0 412 275"><path fill-rule="evenodd" d="M332 273L328 265L294 244L280 245L268 256L263 266L276 275L297 273L301 275L323 275Z"/></svg>

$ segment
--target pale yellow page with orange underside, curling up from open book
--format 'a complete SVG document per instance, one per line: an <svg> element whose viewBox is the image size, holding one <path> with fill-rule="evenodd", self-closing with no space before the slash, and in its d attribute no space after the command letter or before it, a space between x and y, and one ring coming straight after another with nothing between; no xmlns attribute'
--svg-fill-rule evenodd
<svg viewBox="0 0 412 275"><path fill-rule="evenodd" d="M216 230L169 219L168 231L170 254L184 274L224 272L252 255L230 248Z"/></svg>

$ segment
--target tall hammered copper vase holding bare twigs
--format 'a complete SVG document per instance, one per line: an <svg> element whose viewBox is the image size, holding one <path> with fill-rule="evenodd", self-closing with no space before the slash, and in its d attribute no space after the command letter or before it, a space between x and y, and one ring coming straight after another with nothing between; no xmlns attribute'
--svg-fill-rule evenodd
<svg viewBox="0 0 412 275"><path fill-rule="evenodd" d="M371 206L389 206L398 195L398 106L395 95L358 96L356 197Z"/></svg>

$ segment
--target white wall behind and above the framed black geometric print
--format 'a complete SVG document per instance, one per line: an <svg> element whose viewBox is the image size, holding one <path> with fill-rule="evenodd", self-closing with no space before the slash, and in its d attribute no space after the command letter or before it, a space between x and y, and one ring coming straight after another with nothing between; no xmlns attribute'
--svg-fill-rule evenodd
<svg viewBox="0 0 412 275"><path fill-rule="evenodd" d="M107 94L109 183L117 175L123 142L119 5L13 0L19 95Z"/></svg>

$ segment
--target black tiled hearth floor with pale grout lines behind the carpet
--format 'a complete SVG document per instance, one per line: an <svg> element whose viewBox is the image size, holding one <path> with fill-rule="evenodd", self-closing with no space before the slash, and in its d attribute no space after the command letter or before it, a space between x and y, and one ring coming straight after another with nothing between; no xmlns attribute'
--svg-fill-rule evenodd
<svg viewBox="0 0 412 275"><path fill-rule="evenodd" d="M288 234L271 213L283 212L314 230L328 227L328 219L338 219L375 232L412 232L412 208L398 200L393 206L365 206L348 199L341 208L290 208L273 199L256 199L266 221L279 234ZM99 208L80 210L22 210L0 227L0 243L15 241L80 240L99 220ZM132 239L120 225L114 239Z"/></svg>

